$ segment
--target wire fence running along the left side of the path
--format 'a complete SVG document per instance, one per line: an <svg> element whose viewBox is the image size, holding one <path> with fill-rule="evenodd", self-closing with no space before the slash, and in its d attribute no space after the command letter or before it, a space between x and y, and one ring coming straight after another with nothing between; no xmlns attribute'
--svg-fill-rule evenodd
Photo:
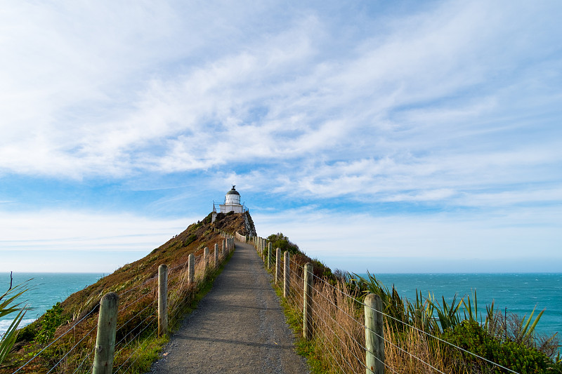
<svg viewBox="0 0 562 374"><path fill-rule="evenodd" d="M193 256L193 281L189 279L188 262L168 270L167 312L171 328L179 325L204 281L233 250L233 236L221 234L227 239L226 245L217 245L216 255L214 251L204 251L207 256L204 253ZM113 373L140 373L155 359L159 348L155 344L158 337L157 288L157 276L151 276L119 291ZM83 315L60 326L51 342L28 354L20 363L1 367L0 373L92 373L99 312L100 302L96 302Z"/></svg>

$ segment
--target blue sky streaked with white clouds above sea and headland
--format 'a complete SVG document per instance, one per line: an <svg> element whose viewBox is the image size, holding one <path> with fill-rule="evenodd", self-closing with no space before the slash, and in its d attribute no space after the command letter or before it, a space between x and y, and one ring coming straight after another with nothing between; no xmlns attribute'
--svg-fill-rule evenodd
<svg viewBox="0 0 562 374"><path fill-rule="evenodd" d="M353 272L562 272L559 1L8 1L0 271L111 272L237 185Z"/></svg>

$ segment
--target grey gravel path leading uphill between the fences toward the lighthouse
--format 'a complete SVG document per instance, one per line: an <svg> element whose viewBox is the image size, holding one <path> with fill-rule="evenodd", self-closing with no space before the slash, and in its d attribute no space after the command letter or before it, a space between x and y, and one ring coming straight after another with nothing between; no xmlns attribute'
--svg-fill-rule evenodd
<svg viewBox="0 0 562 374"><path fill-rule="evenodd" d="M150 373L308 373L254 247L236 251Z"/></svg>

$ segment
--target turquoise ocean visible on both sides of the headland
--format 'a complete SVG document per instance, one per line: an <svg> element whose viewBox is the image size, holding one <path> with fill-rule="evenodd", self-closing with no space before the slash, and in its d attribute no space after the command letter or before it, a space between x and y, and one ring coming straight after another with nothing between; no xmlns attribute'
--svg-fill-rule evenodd
<svg viewBox="0 0 562 374"><path fill-rule="evenodd" d="M95 283L104 274L67 273L15 273L14 285L29 281L31 289L25 293L27 304L32 308L25 315L24 323L30 323L67 296ZM485 314L485 305L495 300L495 307L502 312L529 316L536 306L537 311L546 309L537 331L552 335L562 333L562 273L519 274L376 274L385 286L394 286L401 296L415 299L416 290L422 295L431 293L437 300L445 296L450 302L456 295L462 297L476 289L478 309ZM10 273L0 273L0 291L8 289ZM535 312L537 314L538 312ZM10 323L8 316L0 319L0 334Z"/></svg>

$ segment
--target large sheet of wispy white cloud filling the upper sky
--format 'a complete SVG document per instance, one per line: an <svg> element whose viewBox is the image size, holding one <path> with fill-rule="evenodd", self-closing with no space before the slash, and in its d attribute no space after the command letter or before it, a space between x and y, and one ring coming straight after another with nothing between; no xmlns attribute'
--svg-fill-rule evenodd
<svg viewBox="0 0 562 374"><path fill-rule="evenodd" d="M542 29L514 22L526 17L521 7L542 15L524 4L445 2L386 20L382 35L348 41L352 53L328 49L339 30L312 12L220 53L203 46L232 32L236 41L245 36L244 20L227 14L234 8L181 9L209 17L216 29L205 36L197 29L205 21L183 20L176 5L9 8L4 29L13 37L5 39L16 58L0 69L11 82L1 109L1 167L80 178L431 149L462 126L474 131L479 116L509 109L497 107L497 96L507 94L528 48L535 46L536 59L551 51ZM545 21L544 29L553 27ZM507 36L514 42L506 44ZM197 61L191 54L201 48ZM508 82L485 85L497 74ZM481 99L431 104L475 87ZM252 118L254 107L266 114Z"/></svg>

